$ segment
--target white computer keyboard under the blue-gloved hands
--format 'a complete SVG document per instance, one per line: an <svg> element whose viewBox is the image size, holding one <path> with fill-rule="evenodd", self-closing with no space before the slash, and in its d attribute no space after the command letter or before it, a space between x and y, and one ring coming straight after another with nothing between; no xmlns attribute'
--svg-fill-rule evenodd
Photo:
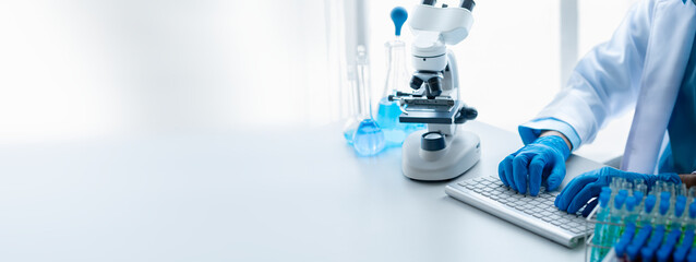
<svg viewBox="0 0 696 262"><path fill-rule="evenodd" d="M445 192L457 200L508 221L519 227L573 248L583 242L593 224L581 215L568 214L553 205L559 191L538 196L518 194L496 177L479 177L448 184Z"/></svg>

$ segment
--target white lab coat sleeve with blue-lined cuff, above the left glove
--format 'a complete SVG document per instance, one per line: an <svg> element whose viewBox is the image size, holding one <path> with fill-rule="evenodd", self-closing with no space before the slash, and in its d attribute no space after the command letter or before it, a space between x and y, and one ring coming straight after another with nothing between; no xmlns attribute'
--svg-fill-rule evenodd
<svg viewBox="0 0 696 262"><path fill-rule="evenodd" d="M577 63L567 85L533 120L519 127L524 140L555 130L575 150L592 142L609 118L635 108L657 1L640 0L632 7L612 38ZM564 123L572 130L559 128Z"/></svg>

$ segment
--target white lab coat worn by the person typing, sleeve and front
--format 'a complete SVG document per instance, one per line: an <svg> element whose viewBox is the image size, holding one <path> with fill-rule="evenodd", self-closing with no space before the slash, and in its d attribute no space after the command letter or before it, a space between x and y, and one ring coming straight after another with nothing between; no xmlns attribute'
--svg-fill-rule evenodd
<svg viewBox="0 0 696 262"><path fill-rule="evenodd" d="M635 108L622 169L653 174L695 33L691 0L640 0L537 119L568 123L583 144L611 116Z"/></svg>

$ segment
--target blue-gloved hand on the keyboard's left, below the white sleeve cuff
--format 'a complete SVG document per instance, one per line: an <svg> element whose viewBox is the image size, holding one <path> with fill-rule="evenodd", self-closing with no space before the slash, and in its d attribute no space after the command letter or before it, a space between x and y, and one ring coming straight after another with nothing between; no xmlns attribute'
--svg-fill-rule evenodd
<svg viewBox="0 0 696 262"><path fill-rule="evenodd" d="M509 154L497 166L501 181L519 193L538 195L543 184L548 191L553 191L565 177L565 159L571 155L571 148L557 135L537 139Z"/></svg>

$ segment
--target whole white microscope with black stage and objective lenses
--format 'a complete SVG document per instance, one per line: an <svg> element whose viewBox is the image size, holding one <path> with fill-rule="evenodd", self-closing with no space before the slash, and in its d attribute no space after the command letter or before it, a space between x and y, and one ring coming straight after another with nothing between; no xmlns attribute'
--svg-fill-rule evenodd
<svg viewBox="0 0 696 262"><path fill-rule="evenodd" d="M457 61L447 49L469 35L475 5L473 0L460 0L458 7L435 7L435 0L423 0L411 11L412 92L396 92L389 99L399 104L400 122L428 127L404 141L401 169L413 180L456 178L481 156L479 136L457 132L457 127L476 119L478 111L459 100Z"/></svg>

